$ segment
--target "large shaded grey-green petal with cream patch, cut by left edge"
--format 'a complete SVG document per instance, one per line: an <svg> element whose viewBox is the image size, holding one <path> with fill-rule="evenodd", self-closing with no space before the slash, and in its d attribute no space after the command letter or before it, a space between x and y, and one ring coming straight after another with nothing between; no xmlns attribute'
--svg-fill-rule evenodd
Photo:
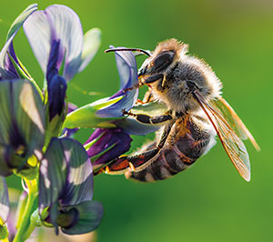
<svg viewBox="0 0 273 242"><path fill-rule="evenodd" d="M27 158L41 153L44 146L42 100L29 81L4 80L0 82L0 109L0 144L5 150L3 160L12 162L8 163L9 167L22 168Z"/></svg>

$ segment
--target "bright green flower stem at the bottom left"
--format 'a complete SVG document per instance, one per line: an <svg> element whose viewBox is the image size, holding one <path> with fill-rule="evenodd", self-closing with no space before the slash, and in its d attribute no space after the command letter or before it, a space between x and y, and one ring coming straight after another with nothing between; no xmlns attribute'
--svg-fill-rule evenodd
<svg viewBox="0 0 273 242"><path fill-rule="evenodd" d="M25 206L25 212L23 214L23 219L21 222L20 227L18 227L17 233L15 235L14 242L22 242L27 239L34 230L35 227L30 225L30 217L31 217L31 212L33 211L33 206L35 204L35 198L37 197L37 183L36 180L27 180L25 179L25 184L28 187L28 197L27 197L27 202ZM31 231L29 229L31 227ZM27 234L25 235L25 232Z"/></svg>

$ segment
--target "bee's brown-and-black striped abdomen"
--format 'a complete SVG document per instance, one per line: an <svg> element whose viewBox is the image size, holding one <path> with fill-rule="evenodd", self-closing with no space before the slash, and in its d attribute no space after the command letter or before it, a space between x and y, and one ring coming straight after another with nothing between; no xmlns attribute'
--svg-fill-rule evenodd
<svg viewBox="0 0 273 242"><path fill-rule="evenodd" d="M147 166L135 172L126 172L126 176L143 182L153 182L187 169L215 143L215 132L211 132L210 126L206 126L204 122L188 118L185 123L182 118L178 119L172 126L166 144L156 156L147 161ZM152 146L156 146L156 142L146 150Z"/></svg>

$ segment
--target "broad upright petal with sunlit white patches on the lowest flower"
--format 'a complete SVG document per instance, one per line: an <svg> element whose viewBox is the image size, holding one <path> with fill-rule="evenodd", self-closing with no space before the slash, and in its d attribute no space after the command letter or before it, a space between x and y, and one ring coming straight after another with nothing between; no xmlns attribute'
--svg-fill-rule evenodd
<svg viewBox="0 0 273 242"><path fill-rule="evenodd" d="M93 173L86 150L71 138L53 138L40 166L39 212L57 201L74 206L93 197Z"/></svg>

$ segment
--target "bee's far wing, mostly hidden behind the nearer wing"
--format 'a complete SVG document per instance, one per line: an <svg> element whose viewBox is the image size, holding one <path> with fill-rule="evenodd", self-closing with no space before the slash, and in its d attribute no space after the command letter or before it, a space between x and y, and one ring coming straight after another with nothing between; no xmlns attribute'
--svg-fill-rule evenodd
<svg viewBox="0 0 273 242"><path fill-rule="evenodd" d="M225 116L227 123L231 126L234 131L238 134L241 139L248 139L257 151L260 150L255 138L251 135L248 127L245 126L243 121L239 118L233 108L227 103L223 97L219 97L216 100L211 101L212 105L216 107L217 112Z"/></svg>

